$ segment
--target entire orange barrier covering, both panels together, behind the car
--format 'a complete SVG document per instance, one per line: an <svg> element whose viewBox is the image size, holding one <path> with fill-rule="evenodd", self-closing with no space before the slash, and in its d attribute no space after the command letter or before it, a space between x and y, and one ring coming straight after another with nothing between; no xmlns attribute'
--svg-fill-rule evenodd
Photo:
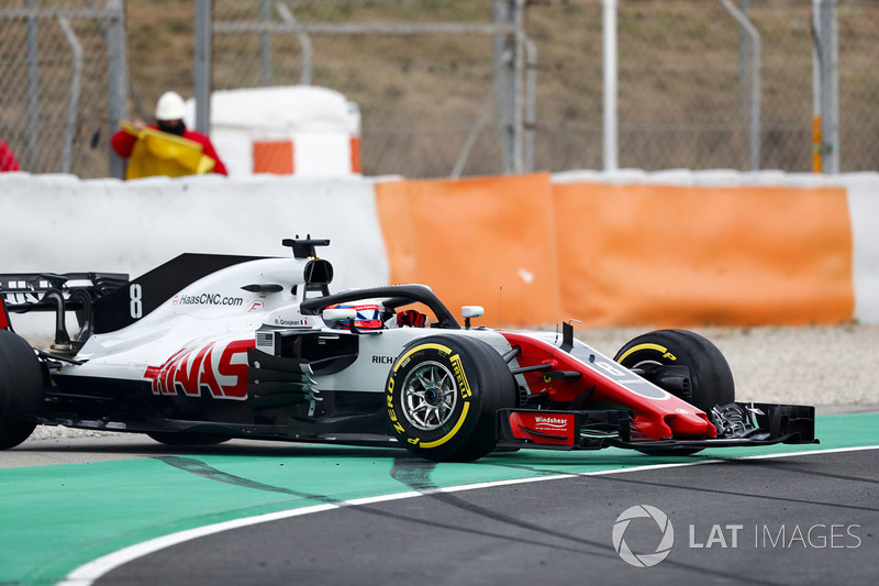
<svg viewBox="0 0 879 586"><path fill-rule="evenodd" d="M489 325L839 323L854 314L844 188L553 184L547 174L376 186L392 283ZM499 298L502 297L502 303Z"/></svg>

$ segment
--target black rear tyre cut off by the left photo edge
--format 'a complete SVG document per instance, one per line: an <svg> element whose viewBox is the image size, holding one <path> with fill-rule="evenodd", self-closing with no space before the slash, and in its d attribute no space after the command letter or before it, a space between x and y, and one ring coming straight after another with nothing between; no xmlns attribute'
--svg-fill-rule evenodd
<svg viewBox="0 0 879 586"><path fill-rule="evenodd" d="M14 447L36 428L46 372L23 338L0 330L0 450Z"/></svg>

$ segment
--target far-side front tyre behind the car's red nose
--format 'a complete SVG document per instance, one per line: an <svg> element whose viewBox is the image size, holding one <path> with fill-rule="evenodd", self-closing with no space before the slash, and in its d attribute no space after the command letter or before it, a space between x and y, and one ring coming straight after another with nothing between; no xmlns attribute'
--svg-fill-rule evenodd
<svg viewBox="0 0 879 586"><path fill-rule="evenodd" d="M658 330L642 334L613 357L627 368L649 371L652 366L686 366L689 371L689 397L681 397L680 389L665 390L688 401L704 412L715 405L735 400L735 383L726 358L717 346L705 338L686 330ZM647 377L649 379L649 377ZM655 382L663 387L661 380ZM699 449L644 449L648 455L690 455Z"/></svg>

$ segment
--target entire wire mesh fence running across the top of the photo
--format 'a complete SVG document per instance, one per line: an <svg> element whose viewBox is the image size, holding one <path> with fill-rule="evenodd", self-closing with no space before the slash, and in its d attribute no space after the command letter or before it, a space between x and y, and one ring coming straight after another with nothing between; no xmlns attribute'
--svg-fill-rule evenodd
<svg viewBox="0 0 879 586"><path fill-rule="evenodd" d="M732 2L760 37L758 165L809 172L812 2ZM0 0L0 139L27 170L110 173L120 52L131 118L152 119L168 89L193 95L197 3L127 2L127 44L109 48L114 3ZM839 0L836 14L839 170L875 169L879 2ZM620 167L750 167L743 38L717 0L619 0ZM214 89L309 82L357 102L367 175L504 173L513 117L534 169L603 166L601 0L214 0L212 54Z"/></svg>

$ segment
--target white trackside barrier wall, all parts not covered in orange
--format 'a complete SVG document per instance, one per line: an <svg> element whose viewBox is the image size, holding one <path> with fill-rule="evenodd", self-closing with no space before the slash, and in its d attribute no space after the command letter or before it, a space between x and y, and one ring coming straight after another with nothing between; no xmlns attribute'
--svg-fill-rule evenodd
<svg viewBox="0 0 879 586"><path fill-rule="evenodd" d="M879 323L877 173L826 176L623 169L615 174L566 172L547 178L553 184L845 189L855 300L850 318ZM319 251L336 268L332 290L385 285L391 267L376 203L379 181L382 179L360 176L275 175L120 181L0 174L0 273L97 270L136 277L185 252L285 256L291 253L281 246L282 239L311 234L332 242ZM414 212L430 214L431 210ZM393 230L392 225L385 228ZM486 230L490 232L488 226ZM399 231L393 234L399 236ZM552 234L547 237L553 240ZM559 276L564 278L572 277Z"/></svg>

